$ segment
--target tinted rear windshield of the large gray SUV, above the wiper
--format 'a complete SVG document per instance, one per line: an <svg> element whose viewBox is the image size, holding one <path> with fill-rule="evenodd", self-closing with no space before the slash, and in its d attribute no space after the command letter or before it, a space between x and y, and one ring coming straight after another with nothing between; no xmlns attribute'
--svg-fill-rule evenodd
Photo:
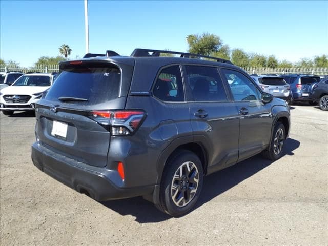
<svg viewBox="0 0 328 246"><path fill-rule="evenodd" d="M86 99L70 100L72 104L100 104L116 99L119 94L121 73L117 67L104 65L80 65L60 71L56 81L46 94L46 99L59 97Z"/></svg>

